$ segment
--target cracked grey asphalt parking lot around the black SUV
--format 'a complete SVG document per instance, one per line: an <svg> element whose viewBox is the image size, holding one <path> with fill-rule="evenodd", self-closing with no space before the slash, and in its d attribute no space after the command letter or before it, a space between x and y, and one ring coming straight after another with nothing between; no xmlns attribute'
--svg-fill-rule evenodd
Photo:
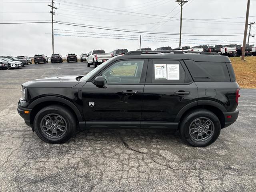
<svg viewBox="0 0 256 192"><path fill-rule="evenodd" d="M0 71L1 191L256 191L256 90L240 91L238 120L206 148L168 130L92 129L65 144L40 140L17 113L20 84L92 69L64 62Z"/></svg>

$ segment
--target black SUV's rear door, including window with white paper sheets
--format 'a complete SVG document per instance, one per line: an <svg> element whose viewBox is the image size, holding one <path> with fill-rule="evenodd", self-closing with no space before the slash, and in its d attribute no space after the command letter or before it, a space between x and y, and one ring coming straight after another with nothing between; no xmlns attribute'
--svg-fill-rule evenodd
<svg viewBox="0 0 256 192"><path fill-rule="evenodd" d="M185 106L196 106L198 90L182 60L149 60L142 102L142 128L177 128Z"/></svg>

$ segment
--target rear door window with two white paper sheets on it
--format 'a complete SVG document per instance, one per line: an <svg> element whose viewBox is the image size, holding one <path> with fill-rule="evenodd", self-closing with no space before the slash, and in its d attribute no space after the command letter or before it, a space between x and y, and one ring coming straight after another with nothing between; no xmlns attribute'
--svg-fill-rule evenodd
<svg viewBox="0 0 256 192"><path fill-rule="evenodd" d="M186 72L179 61L152 61L152 83L185 83L185 76Z"/></svg>

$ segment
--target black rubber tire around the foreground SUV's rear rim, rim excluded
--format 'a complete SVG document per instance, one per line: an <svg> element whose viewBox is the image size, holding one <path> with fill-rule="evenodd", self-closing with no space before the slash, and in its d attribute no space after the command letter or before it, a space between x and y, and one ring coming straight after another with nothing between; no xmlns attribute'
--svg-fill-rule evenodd
<svg viewBox="0 0 256 192"><path fill-rule="evenodd" d="M206 132L208 132L208 134L210 134L210 136L208 136L208 138L206 138L205 140L201 140L201 141L199 141L199 140L197 141L196 138L191 136L192 133L190 132L191 131L190 127L192 127L193 122L195 120L197 120L198 118L208 119L213 124L213 126L211 126L209 128L209 131L211 129L212 132L208 132L208 130L206 130L206 129L208 129L206 126L201 127L200 130L197 128L192 129L192 130L194 130L194 132L195 132L195 130L198 131L198 134L199 134L199 131L201 131L202 134L204 134L204 136L206 136L206 137L207 137L207 135L205 134L204 131L206 131ZM218 117L211 111L205 110L205 109L198 109L198 110L193 110L193 111L189 112L188 114L186 114L186 116L184 116L184 118L182 118L182 121L180 122L180 125L179 125L180 135L182 136L183 140L185 142L187 142L189 145L194 146L194 147L205 147L205 146L208 146L208 145L212 144L213 142L215 142L216 139L218 138L218 136L220 135L220 129L221 129L221 125L220 125L220 120L218 119Z"/></svg>

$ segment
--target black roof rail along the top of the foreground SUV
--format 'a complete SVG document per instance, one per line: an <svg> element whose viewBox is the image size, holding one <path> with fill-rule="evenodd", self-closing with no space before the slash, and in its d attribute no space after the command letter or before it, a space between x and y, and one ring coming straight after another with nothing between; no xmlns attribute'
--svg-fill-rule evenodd
<svg viewBox="0 0 256 192"><path fill-rule="evenodd" d="M124 55L143 55L143 54L158 54L158 53L174 53L174 54L184 54L184 53L197 53L201 55L219 55L218 53L214 52L200 52L200 51L129 51Z"/></svg>

